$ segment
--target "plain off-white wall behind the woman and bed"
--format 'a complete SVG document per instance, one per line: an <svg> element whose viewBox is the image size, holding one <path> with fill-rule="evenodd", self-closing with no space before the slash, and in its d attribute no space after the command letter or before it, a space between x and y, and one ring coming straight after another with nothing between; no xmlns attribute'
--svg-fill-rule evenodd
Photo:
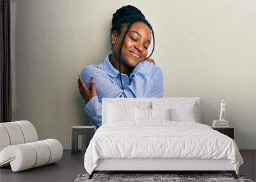
<svg viewBox="0 0 256 182"><path fill-rule="evenodd" d="M77 75L104 61L112 14L132 4L154 28L164 97L199 96L207 125L224 99L239 148L256 149L256 1L11 1L13 120L40 139L68 149L71 126L90 124Z"/></svg>

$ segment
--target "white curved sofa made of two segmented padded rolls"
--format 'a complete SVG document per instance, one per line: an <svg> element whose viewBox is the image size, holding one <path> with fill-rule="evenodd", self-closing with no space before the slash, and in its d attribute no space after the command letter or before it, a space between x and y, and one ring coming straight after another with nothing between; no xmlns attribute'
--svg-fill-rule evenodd
<svg viewBox="0 0 256 182"><path fill-rule="evenodd" d="M0 167L10 165L13 172L56 162L63 148L56 139L38 141L29 121L0 123Z"/></svg>

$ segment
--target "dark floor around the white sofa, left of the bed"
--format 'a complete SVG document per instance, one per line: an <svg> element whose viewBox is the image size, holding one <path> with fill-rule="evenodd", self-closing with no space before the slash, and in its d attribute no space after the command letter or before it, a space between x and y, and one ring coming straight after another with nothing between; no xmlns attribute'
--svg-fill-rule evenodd
<svg viewBox="0 0 256 182"><path fill-rule="evenodd" d="M20 172L10 167L0 169L0 181L74 181L78 174L86 173L83 165L84 154L72 155L64 150L60 161Z"/></svg>

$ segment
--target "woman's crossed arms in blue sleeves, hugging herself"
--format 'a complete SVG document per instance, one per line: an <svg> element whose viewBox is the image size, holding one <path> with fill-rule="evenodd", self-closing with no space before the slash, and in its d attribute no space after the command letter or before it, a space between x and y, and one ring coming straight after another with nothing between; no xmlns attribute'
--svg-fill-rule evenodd
<svg viewBox="0 0 256 182"><path fill-rule="evenodd" d="M101 102L102 98L162 98L163 97L163 73L159 66L148 61L142 61L132 70L129 78L130 84L125 89L117 85L119 79L109 75L96 65L89 65L81 73L79 80L80 92L88 89L90 99L84 106L84 110L98 128L101 126ZM93 79L92 79L93 77ZM118 75L119 77L119 75ZM119 81L119 82L116 82ZM84 85L82 85L84 84ZM81 88L82 87L82 88ZM82 90L81 90L82 89ZM82 93L81 93L82 94ZM82 94L83 95L83 94ZM84 97L84 96L83 96Z"/></svg>

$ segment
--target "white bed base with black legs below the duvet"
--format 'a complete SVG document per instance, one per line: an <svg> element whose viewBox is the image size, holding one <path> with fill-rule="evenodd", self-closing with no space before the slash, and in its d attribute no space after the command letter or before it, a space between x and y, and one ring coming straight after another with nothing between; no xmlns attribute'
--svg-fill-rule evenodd
<svg viewBox="0 0 256 182"><path fill-rule="evenodd" d="M163 158L108 158L100 159L89 179L97 172L114 173L170 173L170 172L223 172L231 173L237 179L236 171L227 159L163 159Z"/></svg>

